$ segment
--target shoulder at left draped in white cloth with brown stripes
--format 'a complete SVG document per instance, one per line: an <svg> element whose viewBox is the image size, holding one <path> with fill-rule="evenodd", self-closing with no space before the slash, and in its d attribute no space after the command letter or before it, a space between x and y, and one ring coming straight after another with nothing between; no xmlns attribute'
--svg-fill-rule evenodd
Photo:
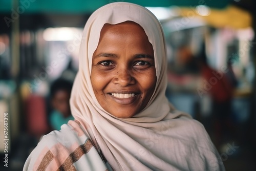
<svg viewBox="0 0 256 171"><path fill-rule="evenodd" d="M81 126L76 121L69 121L61 126L60 131L42 137L29 155L24 170L72 170L81 165L90 168L91 157L88 155L101 160ZM81 160L83 162L79 162ZM99 164L99 168L105 168L104 164Z"/></svg>

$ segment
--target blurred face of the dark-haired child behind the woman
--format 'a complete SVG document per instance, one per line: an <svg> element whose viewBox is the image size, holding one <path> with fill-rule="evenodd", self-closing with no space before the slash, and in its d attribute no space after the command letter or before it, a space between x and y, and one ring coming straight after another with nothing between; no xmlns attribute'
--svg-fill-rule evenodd
<svg viewBox="0 0 256 171"><path fill-rule="evenodd" d="M51 100L53 109L59 111L65 118L71 115L69 99L70 92L58 90Z"/></svg>

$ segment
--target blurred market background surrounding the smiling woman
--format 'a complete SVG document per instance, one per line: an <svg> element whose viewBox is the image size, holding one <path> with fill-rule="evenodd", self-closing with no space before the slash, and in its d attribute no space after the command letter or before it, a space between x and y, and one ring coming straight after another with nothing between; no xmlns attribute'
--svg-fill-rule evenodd
<svg viewBox="0 0 256 171"><path fill-rule="evenodd" d="M8 169L2 162L1 170L22 170L39 138L54 128L58 103L68 111L61 95L53 102L52 84L73 82L83 27L93 11L113 2L139 4L158 17L168 100L203 123L226 170L256 170L253 0L0 0L0 136L6 139L8 113L9 139ZM1 158L5 148L0 143Z"/></svg>

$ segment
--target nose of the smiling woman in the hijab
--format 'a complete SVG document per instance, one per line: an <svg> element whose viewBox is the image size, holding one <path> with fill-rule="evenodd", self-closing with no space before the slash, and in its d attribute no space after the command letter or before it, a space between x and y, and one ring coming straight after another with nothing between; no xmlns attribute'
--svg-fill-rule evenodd
<svg viewBox="0 0 256 171"><path fill-rule="evenodd" d="M113 81L115 84L120 84L123 87L135 83L135 79L128 69L118 70Z"/></svg>

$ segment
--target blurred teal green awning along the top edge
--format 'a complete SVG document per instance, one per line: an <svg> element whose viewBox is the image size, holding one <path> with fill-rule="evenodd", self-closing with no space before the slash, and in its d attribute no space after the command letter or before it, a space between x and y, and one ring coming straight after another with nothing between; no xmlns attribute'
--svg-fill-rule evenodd
<svg viewBox="0 0 256 171"><path fill-rule="evenodd" d="M231 1L239 0L0 0L0 13L11 13L13 3L19 2L19 7L24 7L24 14L28 13L92 13L99 7L114 2L130 2L147 7L169 7L169 6L197 6L207 5L211 8L225 8ZM23 9L21 9L23 10Z"/></svg>

